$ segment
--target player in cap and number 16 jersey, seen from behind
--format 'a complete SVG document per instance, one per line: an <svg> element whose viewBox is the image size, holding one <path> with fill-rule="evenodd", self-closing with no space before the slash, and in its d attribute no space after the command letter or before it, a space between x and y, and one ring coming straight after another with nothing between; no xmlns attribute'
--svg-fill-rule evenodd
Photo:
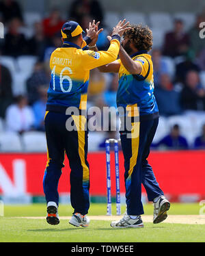
<svg viewBox="0 0 205 256"><path fill-rule="evenodd" d="M128 23L120 21L113 28L111 42L107 51L92 51L96 47L98 24L93 21L83 38L83 29L74 21L66 22L62 29L62 47L51 54L51 82L48 90L46 115L44 118L47 164L44 172L43 188L47 203L46 221L50 225L59 224L58 183L61 168L64 167L65 154L70 164L70 201L74 208L70 224L87 227L86 214L90 207L90 170L87 162L86 111L87 86L90 70L117 59L120 50L120 36L126 31ZM88 49L84 47L87 45ZM85 49L85 51L83 51ZM69 107L78 113L66 112ZM75 129L66 126L72 119Z"/></svg>

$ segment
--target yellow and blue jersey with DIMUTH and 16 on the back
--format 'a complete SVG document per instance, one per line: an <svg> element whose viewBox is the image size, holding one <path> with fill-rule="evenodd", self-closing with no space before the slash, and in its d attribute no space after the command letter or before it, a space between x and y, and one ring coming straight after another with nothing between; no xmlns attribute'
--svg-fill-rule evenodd
<svg viewBox="0 0 205 256"><path fill-rule="evenodd" d="M86 110L90 70L113 62L118 57L120 36L113 36L107 51L81 49L77 44L64 42L51 54L51 82L46 110L65 110L77 107Z"/></svg>

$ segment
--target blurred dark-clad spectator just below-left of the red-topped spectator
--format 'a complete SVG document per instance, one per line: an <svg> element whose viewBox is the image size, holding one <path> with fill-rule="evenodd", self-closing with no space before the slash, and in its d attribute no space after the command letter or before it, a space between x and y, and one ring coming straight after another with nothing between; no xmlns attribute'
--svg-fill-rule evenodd
<svg viewBox="0 0 205 256"><path fill-rule="evenodd" d="M34 35L28 40L29 54L36 55L43 60L44 50L46 49L46 39L41 22L34 24Z"/></svg>

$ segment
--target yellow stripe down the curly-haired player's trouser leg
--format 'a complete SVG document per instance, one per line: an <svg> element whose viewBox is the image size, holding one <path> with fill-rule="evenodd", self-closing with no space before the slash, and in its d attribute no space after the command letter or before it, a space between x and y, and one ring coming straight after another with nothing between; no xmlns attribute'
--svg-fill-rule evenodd
<svg viewBox="0 0 205 256"><path fill-rule="evenodd" d="M128 170L128 178L131 178L133 168L137 164L137 156L139 151L139 125L140 123L132 123L131 140L132 140L132 156L130 159L130 168Z"/></svg>

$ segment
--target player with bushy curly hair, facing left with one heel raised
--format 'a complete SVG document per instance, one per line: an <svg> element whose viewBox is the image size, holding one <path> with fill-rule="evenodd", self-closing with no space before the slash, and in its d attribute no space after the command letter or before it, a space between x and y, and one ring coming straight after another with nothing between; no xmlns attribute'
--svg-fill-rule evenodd
<svg viewBox="0 0 205 256"><path fill-rule="evenodd" d="M120 59L99 68L101 72L119 74L117 105L127 117L122 120L131 123L131 129L124 124L125 129L120 129L127 213L121 220L111 222L111 227L117 228L143 227L141 183L148 194L148 201L154 202L154 223L167 218L170 206L148 164L150 144L159 123L159 110L153 94L153 64L148 54L152 49L152 31L142 25L130 27L123 35Z"/></svg>

